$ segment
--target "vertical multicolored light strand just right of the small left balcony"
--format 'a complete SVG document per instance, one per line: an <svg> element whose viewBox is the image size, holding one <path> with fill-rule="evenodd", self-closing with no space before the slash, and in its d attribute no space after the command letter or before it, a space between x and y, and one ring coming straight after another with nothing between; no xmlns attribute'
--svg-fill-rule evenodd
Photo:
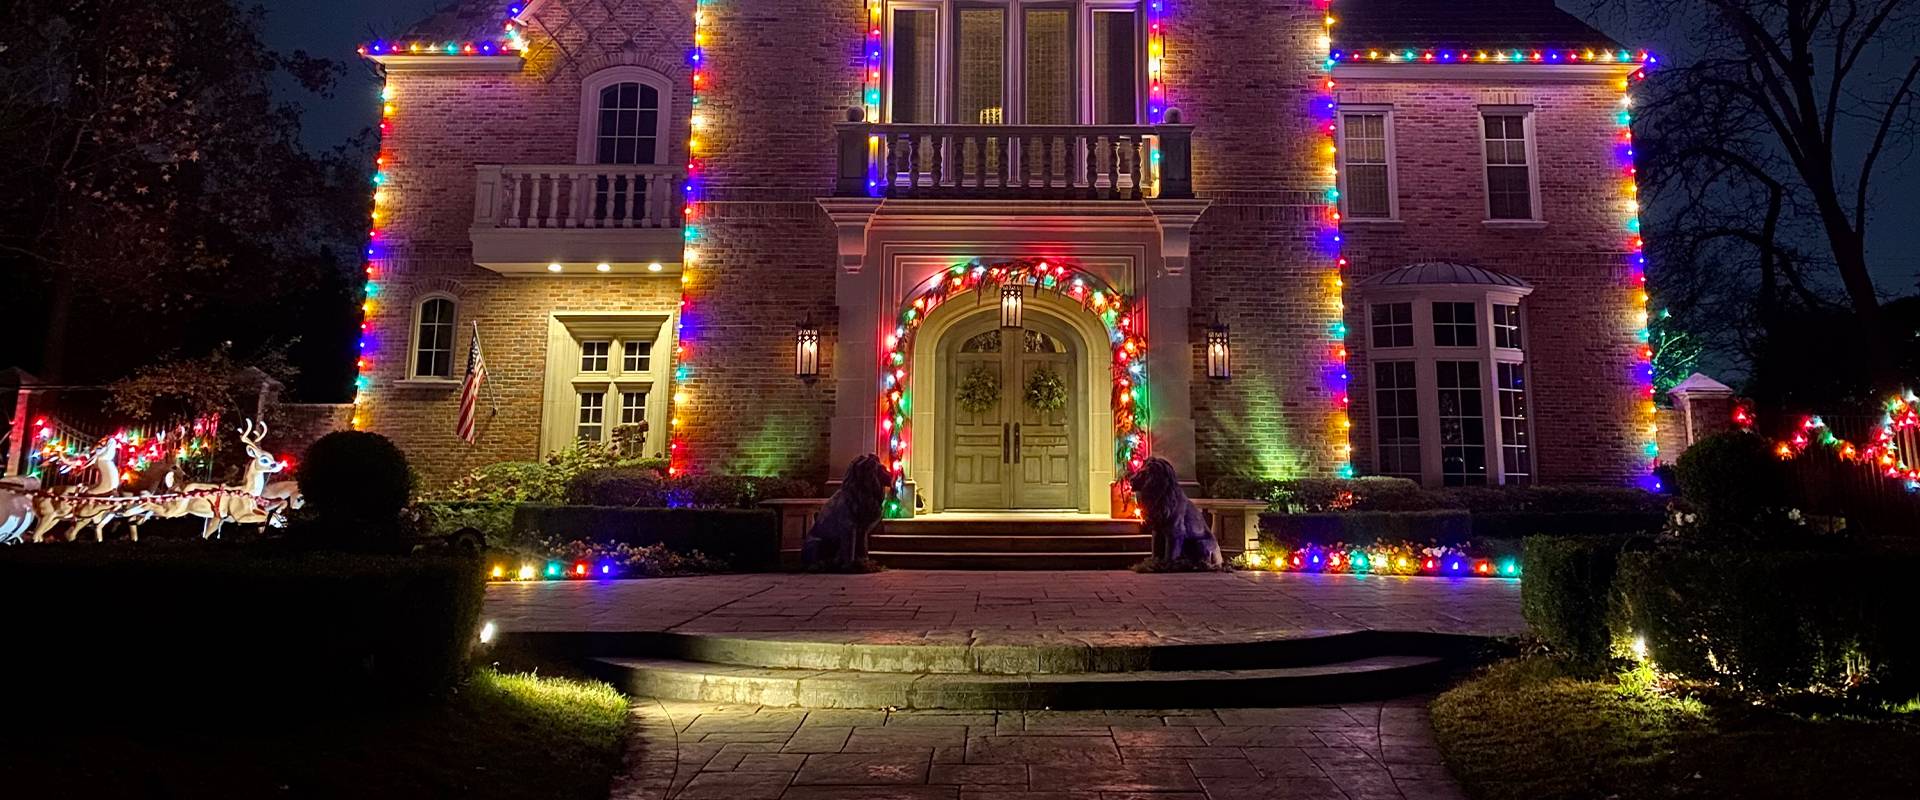
<svg viewBox="0 0 1920 800"><path fill-rule="evenodd" d="M687 401L693 391L693 349L697 347L699 317L693 303L697 286L693 265L701 253L701 155L705 153L708 113L705 107L710 92L707 71L707 31L712 25L712 2L695 0L693 6L693 48L687 50L687 73L693 84L693 132L687 136L687 182L684 186L685 205L682 207L682 255L680 255L680 318L674 326L674 384L668 407L666 432L666 474L684 476L693 470L687 451Z"/></svg>

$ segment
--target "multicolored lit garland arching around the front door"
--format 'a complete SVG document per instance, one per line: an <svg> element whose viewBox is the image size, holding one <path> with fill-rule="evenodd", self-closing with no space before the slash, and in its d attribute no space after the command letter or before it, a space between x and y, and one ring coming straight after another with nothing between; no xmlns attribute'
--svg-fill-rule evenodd
<svg viewBox="0 0 1920 800"><path fill-rule="evenodd" d="M885 334L879 361L879 441L881 462L893 476L887 497L887 516L904 514L906 464L912 451L912 357L914 334L941 303L968 292L993 292L1000 286L1023 286L1027 292L1048 292L1091 311L1106 326L1114 347L1114 464L1119 476L1131 476L1148 455L1148 397L1146 397L1146 336L1140 309L1131 297L1114 292L1098 276L1081 269L1044 261L1020 259L985 263L973 259L935 272L912 294L893 330Z"/></svg>

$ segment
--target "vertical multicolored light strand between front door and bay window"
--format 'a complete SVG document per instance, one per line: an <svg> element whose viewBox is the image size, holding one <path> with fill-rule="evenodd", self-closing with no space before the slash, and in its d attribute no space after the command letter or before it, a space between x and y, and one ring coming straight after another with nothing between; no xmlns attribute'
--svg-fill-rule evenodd
<svg viewBox="0 0 1920 800"><path fill-rule="evenodd" d="M1354 420L1348 416L1352 399L1348 397L1348 370L1346 370L1346 255L1342 253L1340 236L1340 100L1334 94L1332 67L1338 63L1332 52L1332 0L1319 0L1321 4L1321 48L1327 50L1327 58L1321 59L1321 77L1311 92L1313 107L1309 109L1315 125L1327 136L1327 146L1323 148L1323 157L1327 163L1327 211L1321 224L1321 247L1327 251L1327 261L1332 267L1332 274L1327 278L1327 295L1332 322L1327 326L1327 386L1332 389L1334 407L1329 414L1332 418L1332 430L1329 439L1332 441L1332 474L1338 478L1354 478L1354 441L1352 428Z"/></svg>

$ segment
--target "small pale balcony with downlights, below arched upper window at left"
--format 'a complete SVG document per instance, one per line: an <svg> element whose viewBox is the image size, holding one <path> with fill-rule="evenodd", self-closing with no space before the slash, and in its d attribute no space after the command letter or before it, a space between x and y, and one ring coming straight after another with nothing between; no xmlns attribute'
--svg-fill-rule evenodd
<svg viewBox="0 0 1920 800"><path fill-rule="evenodd" d="M685 171L664 165L497 165L474 178L474 263L503 274L676 272Z"/></svg>

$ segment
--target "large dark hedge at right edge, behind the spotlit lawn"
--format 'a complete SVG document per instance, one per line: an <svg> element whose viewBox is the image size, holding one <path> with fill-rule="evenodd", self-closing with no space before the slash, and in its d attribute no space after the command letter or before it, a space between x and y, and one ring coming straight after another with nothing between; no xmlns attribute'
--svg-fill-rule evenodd
<svg viewBox="0 0 1920 800"><path fill-rule="evenodd" d="M1620 558L1619 627L1682 677L1907 700L1920 693L1916 570L1914 554L1636 553Z"/></svg>

